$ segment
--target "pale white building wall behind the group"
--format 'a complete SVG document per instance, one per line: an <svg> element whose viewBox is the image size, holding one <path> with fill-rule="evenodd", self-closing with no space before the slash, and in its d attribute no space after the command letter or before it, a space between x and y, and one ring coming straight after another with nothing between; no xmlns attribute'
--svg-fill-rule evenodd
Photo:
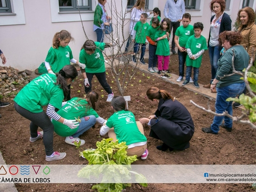
<svg viewBox="0 0 256 192"><path fill-rule="evenodd" d="M93 0L94 1L94 0ZM229 10L226 10L234 24L237 12L242 7L243 0L230 0ZM250 1L255 10L255 1ZM86 41L79 14L59 14L57 0L32 1L11 0L13 12L15 14L6 15L0 13L0 49L4 52L7 62L5 66L12 66L19 70L30 69L35 70L44 62L47 51L52 45L52 38L57 31L62 29L68 30L75 38L75 41L70 42L69 46L73 51L75 59L79 59L79 52ZM93 10L97 4L94 1ZM117 9L121 11L121 1L114 1ZM166 0L149 0L149 9L158 6L164 18L164 5ZM199 2L199 4L198 4ZM193 17L191 25L195 22L202 22L204 30L202 35L208 38L210 29L210 0L197 0L197 10L187 10ZM110 0L106 5L108 14ZM127 1L123 1L123 9ZM150 15L152 16L152 15ZM129 18L127 14L127 25L124 26L125 35L129 35ZM96 39L93 32L93 12L82 14L83 25L89 39ZM148 22L150 18L148 18ZM113 21L115 23L115 20ZM116 31L114 30L114 37ZM107 38L105 38L107 42ZM171 43L171 41L170 41ZM106 52L106 54L109 54Z"/></svg>

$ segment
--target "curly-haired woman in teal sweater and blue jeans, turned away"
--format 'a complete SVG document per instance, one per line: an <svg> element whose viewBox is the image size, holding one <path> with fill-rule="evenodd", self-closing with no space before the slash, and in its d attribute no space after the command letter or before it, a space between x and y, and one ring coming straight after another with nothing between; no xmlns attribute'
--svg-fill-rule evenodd
<svg viewBox="0 0 256 192"><path fill-rule="evenodd" d="M215 113L222 114L227 111L233 115L232 101L226 101L227 98L235 98L244 90L245 83L238 74L233 74L233 57L236 71L242 73L243 69L249 64L249 54L242 45L242 35L235 31L223 31L219 35L219 43L225 48L226 52L218 61L218 70L216 77L211 84L211 90L217 87L217 97L215 101ZM234 52L234 53L233 53ZM233 74L233 75L230 75ZM222 123L224 119L224 123ZM232 131L232 119L225 116L214 116L210 127L202 128L205 133L218 134L219 126L227 131Z"/></svg>

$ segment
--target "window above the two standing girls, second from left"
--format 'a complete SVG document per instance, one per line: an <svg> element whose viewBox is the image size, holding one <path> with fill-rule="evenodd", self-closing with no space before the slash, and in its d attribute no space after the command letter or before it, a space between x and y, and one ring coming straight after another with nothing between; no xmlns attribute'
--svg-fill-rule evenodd
<svg viewBox="0 0 256 192"><path fill-rule="evenodd" d="M59 0L59 7L61 11L91 11L92 0Z"/></svg>

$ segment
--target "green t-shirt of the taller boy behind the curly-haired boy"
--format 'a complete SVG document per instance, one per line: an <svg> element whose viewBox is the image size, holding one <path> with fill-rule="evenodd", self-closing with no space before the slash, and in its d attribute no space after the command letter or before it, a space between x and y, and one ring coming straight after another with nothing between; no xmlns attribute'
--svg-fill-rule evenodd
<svg viewBox="0 0 256 192"><path fill-rule="evenodd" d="M179 37L179 44L181 47L185 47L188 38L194 34L194 27L191 25L188 25L187 27L180 26L175 32L175 35Z"/></svg>

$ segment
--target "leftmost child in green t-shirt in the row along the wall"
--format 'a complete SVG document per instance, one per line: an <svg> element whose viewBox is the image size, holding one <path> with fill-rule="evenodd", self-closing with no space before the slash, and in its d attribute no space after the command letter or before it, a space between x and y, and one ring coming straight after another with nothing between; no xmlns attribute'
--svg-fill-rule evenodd
<svg viewBox="0 0 256 192"><path fill-rule="evenodd" d="M133 46L134 53L132 55L132 61L134 63L137 63L136 55L139 52L140 46L141 46L140 63L142 65L146 64L144 61L144 55L146 51L146 44L148 44L146 39L146 31L149 27L149 24L147 23L147 17L148 17L147 13L142 13L140 15L140 21L136 23L134 27L133 37L132 37L132 41L134 42L134 46Z"/></svg>

